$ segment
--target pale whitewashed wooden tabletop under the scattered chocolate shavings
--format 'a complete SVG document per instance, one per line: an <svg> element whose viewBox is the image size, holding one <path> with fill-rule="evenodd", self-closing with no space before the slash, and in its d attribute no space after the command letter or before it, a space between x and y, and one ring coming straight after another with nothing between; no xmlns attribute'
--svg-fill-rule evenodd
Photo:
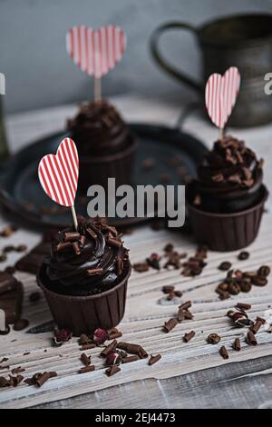
<svg viewBox="0 0 272 427"><path fill-rule="evenodd" d="M11 239L16 240L16 235ZM9 361L6 363L11 367L23 366L26 369L24 376L32 376L35 372L41 371L57 371L59 376L46 382L41 389L23 384L17 388L1 390L0 407L23 408L46 402L63 401L121 384L142 383L149 379L164 380L271 355L272 334L263 329L257 334L259 343L257 347L248 346L245 343L245 331L233 329L225 314L235 303L243 301L252 304L250 313L253 318L257 315L271 316L272 281L270 280L265 288L254 287L251 293L232 296L226 301L219 301L218 295L214 292L216 285L225 276L225 273L219 272L217 268L221 261L228 259L233 263L234 268L243 270L252 270L263 263L271 266L271 239L272 219L265 215L261 233L250 247L250 258L247 261L238 261L237 252L228 254L210 252L208 266L199 277L194 279L183 277L180 271L176 270L132 273L127 310L120 325L123 333L122 340L141 343L149 353L160 353L162 355L160 362L153 366L149 366L146 360L129 363L121 367L121 372L108 378L104 374L104 366L99 358L99 349L93 349L88 353L92 354L95 372L79 376L77 371L82 363L79 360L80 351L75 338L63 347L54 348L51 346L51 333L32 335L13 331L1 337L1 357L8 357ZM174 243L177 250L182 252L194 253L196 249L194 243L181 233L165 230L154 232L147 226L125 237L125 243L131 248L132 263L143 260L153 252L154 248L162 253L163 246L168 242ZM16 273L16 276L24 282L24 317L30 321L30 325L34 326L50 320L51 316L44 300L38 304L28 302L29 293L36 289L34 276L27 273ZM175 304L171 302L168 305L162 304L164 297L161 287L164 284L174 284L177 290L183 292L180 301ZM180 323L171 333L163 333L161 330L163 323L177 313L180 302L189 299L193 302L193 321ZM182 335L190 330L196 331L196 337L190 343L183 343ZM206 342L209 333L219 333L222 336L221 343L209 345ZM239 353L230 351L229 360L224 361L219 356L219 346L224 344L229 348L236 336L241 338L242 350ZM30 354L23 355L28 352ZM5 369L1 371L2 375L7 373ZM152 383L151 387L153 387ZM182 402L182 396L180 392L180 402ZM127 399L128 401L125 400L123 404L132 405L129 397ZM144 395L141 392L139 392L138 404L140 406L144 404ZM103 407L105 407L104 402Z"/></svg>

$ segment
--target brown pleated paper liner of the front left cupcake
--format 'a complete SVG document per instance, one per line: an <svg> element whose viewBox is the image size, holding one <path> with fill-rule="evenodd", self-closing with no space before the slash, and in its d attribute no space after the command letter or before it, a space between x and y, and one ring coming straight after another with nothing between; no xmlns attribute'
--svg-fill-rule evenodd
<svg viewBox="0 0 272 427"><path fill-rule="evenodd" d="M111 329L121 322L125 312L127 283L131 275L131 263L128 271L112 289L104 293L89 296L71 296L49 291L43 284L44 266L37 274L37 283L42 288L59 328L67 328L74 336L81 333L93 333L95 329Z"/></svg>

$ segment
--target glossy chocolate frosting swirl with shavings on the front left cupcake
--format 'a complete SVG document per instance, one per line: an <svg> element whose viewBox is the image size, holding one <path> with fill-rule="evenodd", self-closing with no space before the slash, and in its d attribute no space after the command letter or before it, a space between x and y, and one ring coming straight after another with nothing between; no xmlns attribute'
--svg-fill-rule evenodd
<svg viewBox="0 0 272 427"><path fill-rule="evenodd" d="M105 220L79 218L78 231L59 232L45 260L46 275L73 293L109 289L121 276L128 251L121 236Z"/></svg>

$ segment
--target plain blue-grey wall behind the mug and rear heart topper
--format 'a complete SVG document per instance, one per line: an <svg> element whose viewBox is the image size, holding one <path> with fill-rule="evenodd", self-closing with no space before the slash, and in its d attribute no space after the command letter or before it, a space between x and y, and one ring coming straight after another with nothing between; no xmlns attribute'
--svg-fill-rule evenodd
<svg viewBox="0 0 272 427"><path fill-rule="evenodd" d="M73 25L115 24L128 36L119 65L103 78L103 94L192 96L152 63L148 40L161 22L194 25L237 12L272 13L272 0L0 0L0 72L8 112L65 104L92 96L90 78L68 57L64 37ZM168 56L199 76L195 41L183 32L165 36Z"/></svg>

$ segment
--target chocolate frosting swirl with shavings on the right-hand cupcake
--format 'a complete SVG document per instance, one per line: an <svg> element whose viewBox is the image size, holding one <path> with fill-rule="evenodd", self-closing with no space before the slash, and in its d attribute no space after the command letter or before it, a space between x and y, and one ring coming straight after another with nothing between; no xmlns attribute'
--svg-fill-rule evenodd
<svg viewBox="0 0 272 427"><path fill-rule="evenodd" d="M209 211L237 211L253 204L262 184L263 160L231 135L214 143L193 182L195 204ZM240 199L238 203L238 199ZM225 204L225 205L224 205Z"/></svg>

